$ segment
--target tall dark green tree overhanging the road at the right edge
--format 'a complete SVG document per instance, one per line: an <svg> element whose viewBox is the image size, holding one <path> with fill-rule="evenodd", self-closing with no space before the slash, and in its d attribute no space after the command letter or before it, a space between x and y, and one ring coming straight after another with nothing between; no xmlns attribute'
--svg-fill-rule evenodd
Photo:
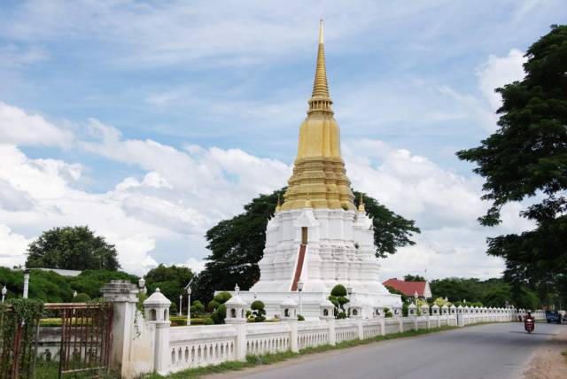
<svg viewBox="0 0 567 379"><path fill-rule="evenodd" d="M477 164L492 203L483 225L501 222L501 207L532 197L521 215L536 228L488 240L488 254L506 259L505 277L517 291L527 284L543 294L567 296L567 26L527 50L522 81L497 89L499 128L480 146L457 152Z"/></svg>

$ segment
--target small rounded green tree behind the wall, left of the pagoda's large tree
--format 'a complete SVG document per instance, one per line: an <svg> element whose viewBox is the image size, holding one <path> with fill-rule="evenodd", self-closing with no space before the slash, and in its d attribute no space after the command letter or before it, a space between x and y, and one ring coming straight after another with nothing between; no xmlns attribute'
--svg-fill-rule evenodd
<svg viewBox="0 0 567 379"><path fill-rule="evenodd" d="M193 272L188 267L183 266L165 266L160 264L158 267L152 268L144 276L145 285L150 293L159 288L161 293L172 303L170 312L178 312L177 304L179 303L179 295L183 296L182 313L187 313L187 293L185 286L193 278ZM175 306L174 306L175 305ZM173 314L173 313L172 313Z"/></svg>

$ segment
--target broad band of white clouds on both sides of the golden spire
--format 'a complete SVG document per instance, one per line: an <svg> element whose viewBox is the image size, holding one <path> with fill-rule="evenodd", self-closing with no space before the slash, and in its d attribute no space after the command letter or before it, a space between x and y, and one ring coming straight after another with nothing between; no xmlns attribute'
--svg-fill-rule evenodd
<svg viewBox="0 0 567 379"><path fill-rule="evenodd" d="M11 246L0 258L4 264L21 263L28 241L44 229L87 224L116 244L128 271L143 273L158 261L200 270L206 229L242 212L258 193L282 187L291 174L291 167L276 159L238 149L192 144L178 150L149 139L124 139L118 129L97 120L89 121L89 139L78 144L83 151L136 166L144 177L127 176L112 190L89 193L75 188L81 165L30 159L18 147L0 144L0 246ZM423 230L416 246L384 260L384 275L425 268L435 276L497 275L501 260L485 256L485 237L531 227L517 217L519 205L504 209L501 228L479 227L476 218L486 205L479 200L477 178L379 140L351 139L342 148L354 188L416 220ZM11 228L24 232L16 235ZM160 245L175 250L164 252Z"/></svg>

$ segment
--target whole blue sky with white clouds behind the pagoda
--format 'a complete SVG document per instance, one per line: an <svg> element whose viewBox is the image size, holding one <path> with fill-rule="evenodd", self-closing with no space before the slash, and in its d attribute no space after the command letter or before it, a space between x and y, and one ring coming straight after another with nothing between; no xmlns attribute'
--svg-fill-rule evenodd
<svg viewBox="0 0 567 379"><path fill-rule="evenodd" d="M495 128L493 88L560 1L4 1L0 264L88 223L122 265L200 267L203 235L287 180L325 21L347 174L423 228L384 276L498 275L481 182L454 151Z"/></svg>

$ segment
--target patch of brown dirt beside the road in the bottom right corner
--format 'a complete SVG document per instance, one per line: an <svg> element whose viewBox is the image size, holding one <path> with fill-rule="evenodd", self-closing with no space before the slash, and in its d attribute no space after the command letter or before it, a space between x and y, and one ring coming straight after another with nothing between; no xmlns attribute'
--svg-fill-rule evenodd
<svg viewBox="0 0 567 379"><path fill-rule="evenodd" d="M532 355L524 379L567 378L567 327Z"/></svg>

